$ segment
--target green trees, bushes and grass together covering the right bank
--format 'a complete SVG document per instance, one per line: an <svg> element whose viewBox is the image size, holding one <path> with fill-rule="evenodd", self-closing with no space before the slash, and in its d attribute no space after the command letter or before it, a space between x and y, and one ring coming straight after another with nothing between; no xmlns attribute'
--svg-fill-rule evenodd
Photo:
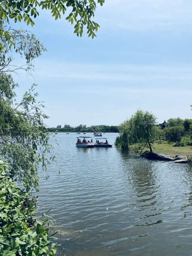
<svg viewBox="0 0 192 256"><path fill-rule="evenodd" d="M192 119L170 118L161 129L156 117L148 111L137 110L129 120L119 125L116 146L141 153L152 148L170 156L191 155Z"/></svg>

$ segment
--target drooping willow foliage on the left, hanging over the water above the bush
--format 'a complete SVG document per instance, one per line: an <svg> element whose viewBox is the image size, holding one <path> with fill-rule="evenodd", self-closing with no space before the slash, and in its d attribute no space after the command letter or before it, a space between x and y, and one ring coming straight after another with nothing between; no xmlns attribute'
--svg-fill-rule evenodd
<svg viewBox="0 0 192 256"><path fill-rule="evenodd" d="M45 128L44 105L37 101L35 85L26 91L21 102L16 102L15 86L11 75L0 73L0 152L10 163L14 181L27 180L26 190L38 187L37 168L55 159L51 134ZM47 158L49 153L49 158Z"/></svg>

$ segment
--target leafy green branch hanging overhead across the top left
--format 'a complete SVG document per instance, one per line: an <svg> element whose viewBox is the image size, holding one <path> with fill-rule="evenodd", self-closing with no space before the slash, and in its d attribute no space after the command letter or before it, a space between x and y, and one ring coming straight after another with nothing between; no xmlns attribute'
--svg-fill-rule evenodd
<svg viewBox="0 0 192 256"><path fill-rule="evenodd" d="M105 0L98 0L98 3L102 6ZM10 19L14 19L15 23L22 20L33 26L34 18L39 16L37 7L42 9L48 9L51 11L52 16L55 20L61 18L61 14L65 15L65 12L70 8L70 14L66 17L71 24L75 22L74 33L77 36L82 36L83 27L87 26L88 37L96 37L95 32L97 32L99 25L91 20L94 17L94 12L96 9L96 3L94 0L45 0L38 2L37 0L5 0L0 4L0 19L6 20L9 23ZM1 37L8 36L5 35L4 31L1 30Z"/></svg>

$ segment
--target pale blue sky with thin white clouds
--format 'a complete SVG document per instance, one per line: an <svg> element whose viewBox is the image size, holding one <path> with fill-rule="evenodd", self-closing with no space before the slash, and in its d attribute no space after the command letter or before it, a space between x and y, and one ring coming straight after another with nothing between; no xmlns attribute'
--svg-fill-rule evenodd
<svg viewBox="0 0 192 256"><path fill-rule="evenodd" d="M34 77L15 77L17 94L38 83L49 127L119 125L139 108L160 123L191 118L191 17L188 0L105 0L91 39L41 10L33 27L14 25L32 31L48 50L35 60Z"/></svg>

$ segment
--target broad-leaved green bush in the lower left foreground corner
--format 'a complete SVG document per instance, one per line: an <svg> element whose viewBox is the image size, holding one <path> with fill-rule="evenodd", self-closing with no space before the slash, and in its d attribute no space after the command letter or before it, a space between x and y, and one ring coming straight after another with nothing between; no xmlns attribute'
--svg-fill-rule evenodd
<svg viewBox="0 0 192 256"><path fill-rule="evenodd" d="M9 176L8 164L0 159L0 256L40 256L56 253L48 236L48 219L36 221L36 198L29 198Z"/></svg>

